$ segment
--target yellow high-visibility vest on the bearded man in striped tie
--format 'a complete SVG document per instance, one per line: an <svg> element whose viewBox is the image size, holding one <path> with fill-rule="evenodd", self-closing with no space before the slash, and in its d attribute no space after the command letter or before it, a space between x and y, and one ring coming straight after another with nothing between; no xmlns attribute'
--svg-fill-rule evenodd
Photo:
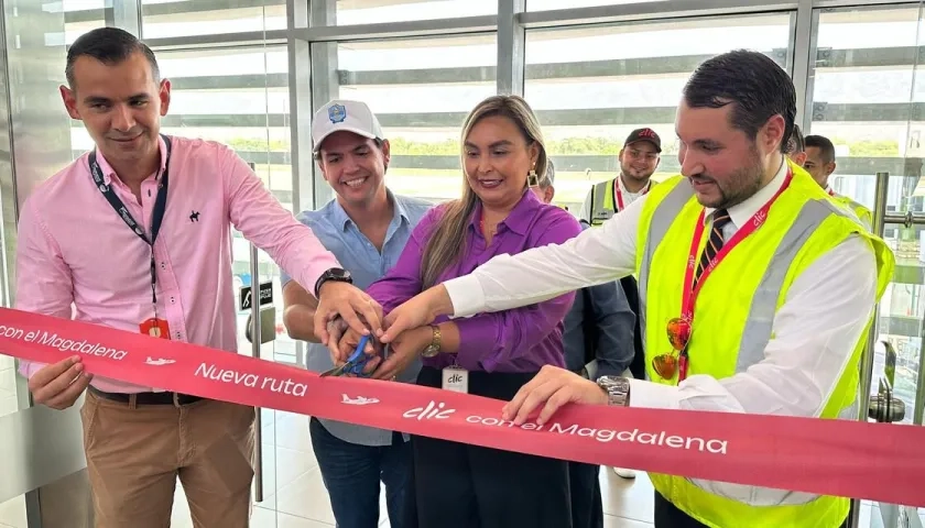
<svg viewBox="0 0 925 528"><path fill-rule="evenodd" d="M773 339L774 315L793 282L817 257L852 234L863 238L877 256L878 299L892 278L895 260L889 246L836 206L803 168L791 166L793 180L771 207L764 224L712 270L696 299L688 376L722 380L764 360L764 349ZM672 350L666 323L681 315L690 241L703 210L690 185L676 176L650 191L641 213L636 273L640 305L645 307L645 363L655 383L677 383L676 378L663 380L652 360ZM708 237L703 240L706 243ZM868 326L820 418L857 419L858 366L869 330ZM780 505L751 505L711 493L683 476L649 476L672 504L714 528L835 528L848 515L848 498L794 494Z"/></svg>

